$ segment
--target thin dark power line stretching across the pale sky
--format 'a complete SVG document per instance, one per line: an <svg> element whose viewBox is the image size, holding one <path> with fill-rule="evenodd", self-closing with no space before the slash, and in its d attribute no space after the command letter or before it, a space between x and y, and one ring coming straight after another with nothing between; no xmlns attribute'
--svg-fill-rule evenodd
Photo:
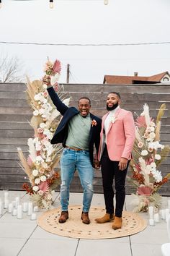
<svg viewBox="0 0 170 256"><path fill-rule="evenodd" d="M6 42L6 41L0 41L0 43L33 45L33 46L148 46L148 45L170 44L170 42L152 42L152 43L24 43L24 42Z"/></svg>

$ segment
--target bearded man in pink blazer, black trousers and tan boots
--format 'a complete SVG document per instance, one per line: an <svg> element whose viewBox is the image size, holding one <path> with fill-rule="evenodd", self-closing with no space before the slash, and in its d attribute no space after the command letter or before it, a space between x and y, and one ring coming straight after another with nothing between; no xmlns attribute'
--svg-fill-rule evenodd
<svg viewBox="0 0 170 256"><path fill-rule="evenodd" d="M133 114L120 108L119 93L112 92L107 95L107 111L108 113L102 118L98 155L102 165L106 214L95 221L105 223L114 220L112 229L121 229L122 208L125 201L125 177L135 141L135 124ZM115 211L113 179L115 179L116 191Z"/></svg>

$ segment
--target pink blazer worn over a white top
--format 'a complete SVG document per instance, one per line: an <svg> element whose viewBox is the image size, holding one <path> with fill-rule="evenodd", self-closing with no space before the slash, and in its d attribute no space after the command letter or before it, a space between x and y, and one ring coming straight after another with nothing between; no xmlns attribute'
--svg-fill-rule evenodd
<svg viewBox="0 0 170 256"><path fill-rule="evenodd" d="M102 130L100 133L100 145L98 159L104 150L105 135L103 132L104 121L109 113L102 117ZM112 161L120 161L120 158L132 158L133 143L135 141L135 124L133 114L125 109L118 108L115 113L115 121L110 121L109 130L107 132L107 150L109 159Z"/></svg>

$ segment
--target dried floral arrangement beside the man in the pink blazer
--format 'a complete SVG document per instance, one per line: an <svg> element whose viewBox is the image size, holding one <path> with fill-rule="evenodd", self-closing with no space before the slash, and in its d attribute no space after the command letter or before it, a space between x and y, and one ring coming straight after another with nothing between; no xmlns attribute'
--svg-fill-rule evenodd
<svg viewBox="0 0 170 256"><path fill-rule="evenodd" d="M133 168L131 182L136 187L132 203L138 205L135 212L147 212L148 206L161 208L161 195L158 189L168 182L170 174L162 176L161 163L169 155L169 145L160 143L161 118L164 115L166 105L162 104L156 122L150 117L148 105L143 106L143 113L135 121L135 143L133 147Z"/></svg>

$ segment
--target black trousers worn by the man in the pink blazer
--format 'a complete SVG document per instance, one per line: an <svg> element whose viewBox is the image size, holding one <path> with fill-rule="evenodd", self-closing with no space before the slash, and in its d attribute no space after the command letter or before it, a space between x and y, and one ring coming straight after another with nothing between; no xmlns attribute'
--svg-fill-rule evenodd
<svg viewBox="0 0 170 256"><path fill-rule="evenodd" d="M128 161L129 164L130 161ZM107 153L107 146L104 148L102 155L102 182L104 189L104 201L106 205L107 213L114 213L114 190L113 179L115 178L115 190L116 190L116 209L115 216L122 217L122 208L125 201L125 178L128 170L127 168L120 171L118 166L119 161L111 161Z"/></svg>

